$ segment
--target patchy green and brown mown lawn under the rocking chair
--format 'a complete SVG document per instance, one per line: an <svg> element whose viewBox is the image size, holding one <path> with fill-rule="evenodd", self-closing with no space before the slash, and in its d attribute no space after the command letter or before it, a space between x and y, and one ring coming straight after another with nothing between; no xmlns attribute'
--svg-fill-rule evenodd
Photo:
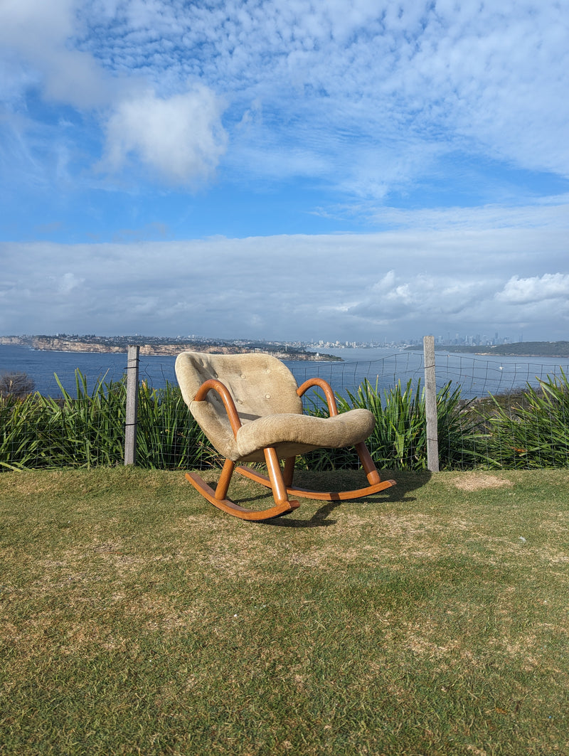
<svg viewBox="0 0 569 756"><path fill-rule="evenodd" d="M2 473L0 753L569 754L569 471L384 476Z"/></svg>

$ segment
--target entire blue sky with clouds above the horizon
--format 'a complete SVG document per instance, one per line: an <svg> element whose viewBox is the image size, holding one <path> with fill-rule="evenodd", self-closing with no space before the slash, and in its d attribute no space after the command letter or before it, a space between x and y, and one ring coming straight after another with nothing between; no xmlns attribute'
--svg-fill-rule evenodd
<svg viewBox="0 0 569 756"><path fill-rule="evenodd" d="M569 6L2 0L0 333L569 339Z"/></svg>

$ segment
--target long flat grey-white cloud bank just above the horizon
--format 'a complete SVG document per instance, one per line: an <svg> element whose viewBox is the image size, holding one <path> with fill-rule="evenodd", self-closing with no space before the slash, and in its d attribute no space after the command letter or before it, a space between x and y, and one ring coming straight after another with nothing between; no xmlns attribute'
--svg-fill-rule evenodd
<svg viewBox="0 0 569 756"><path fill-rule="evenodd" d="M379 234L0 244L0 333L354 340L523 330L564 339L567 215L550 228L550 210L527 208L525 228L515 212L497 231L484 214L468 232L456 228L451 210L436 229L410 222Z"/></svg>

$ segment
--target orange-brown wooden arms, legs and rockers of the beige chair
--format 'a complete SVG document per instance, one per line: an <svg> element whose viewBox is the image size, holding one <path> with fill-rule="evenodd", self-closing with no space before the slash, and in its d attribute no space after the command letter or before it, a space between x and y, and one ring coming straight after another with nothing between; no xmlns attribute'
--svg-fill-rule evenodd
<svg viewBox="0 0 569 756"><path fill-rule="evenodd" d="M332 391L332 387L322 378L310 378L305 381L302 386L297 389L298 396L302 396L308 389L313 386L319 386L323 390L326 402L328 404L328 411L330 417L333 417L338 412L336 404L336 397ZM230 395L229 390L220 380L210 379L206 380L202 386L199 387L198 392L194 398L194 401L204 401L210 391L215 391L221 397L224 403L225 411L227 411L227 417L229 418L231 429L233 434L237 437L237 431L241 427L241 420L237 413L237 408L233 402L233 398ZM280 515L292 512L298 509L300 503L298 500L289 499L292 497L301 497L325 501L344 501L349 499L359 499L363 496L370 494L376 494L378 491L383 491L385 488L389 488L395 485L394 480L384 480L379 476L379 472L376 469L375 464L371 458L364 442L360 442L355 445L358 457L363 466L363 470L366 473L368 485L364 488L357 488L354 491L310 491L305 488L294 488L292 486L292 479L294 476L295 460L296 457L288 457L284 460L284 467L281 469L279 458L277 457L277 451L274 447L264 448L264 458L267 463L268 476L263 476L255 469L246 466L237 467L237 472L240 475L246 476L254 480L261 485L271 488L274 497L274 507L269 507L265 510L250 510L246 507L241 507L227 498L227 491L229 490L229 484L233 471L236 469L236 463L233 460L226 459L224 462L221 475L218 479L218 484L215 488L211 488L196 472L187 472L186 478L190 483L203 495L210 503L214 504L218 509L223 510L227 514L241 519L260 521L264 519L271 519L272 517L279 517Z"/></svg>

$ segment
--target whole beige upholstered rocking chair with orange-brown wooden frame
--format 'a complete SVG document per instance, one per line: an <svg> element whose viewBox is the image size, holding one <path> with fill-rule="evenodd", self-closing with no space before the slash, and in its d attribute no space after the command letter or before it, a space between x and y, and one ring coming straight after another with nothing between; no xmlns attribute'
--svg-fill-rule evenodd
<svg viewBox="0 0 569 756"><path fill-rule="evenodd" d="M373 414L364 409L339 414L332 389L320 378L312 378L298 388L288 367L271 355L202 352L178 355L176 376L191 414L225 457L215 491L195 472L188 472L186 477L207 500L233 516L268 519L298 507L298 501L289 500L289 496L327 501L355 499L395 485L394 480L380 479L364 443L373 431ZM329 417L303 414L301 397L311 386L323 390ZM323 493L292 487L297 454L345 446L355 446L357 450L367 476L365 488ZM280 460L284 460L284 469ZM266 463L268 478L246 466L238 467L237 472L271 488L274 507L249 510L227 499L237 462Z"/></svg>

